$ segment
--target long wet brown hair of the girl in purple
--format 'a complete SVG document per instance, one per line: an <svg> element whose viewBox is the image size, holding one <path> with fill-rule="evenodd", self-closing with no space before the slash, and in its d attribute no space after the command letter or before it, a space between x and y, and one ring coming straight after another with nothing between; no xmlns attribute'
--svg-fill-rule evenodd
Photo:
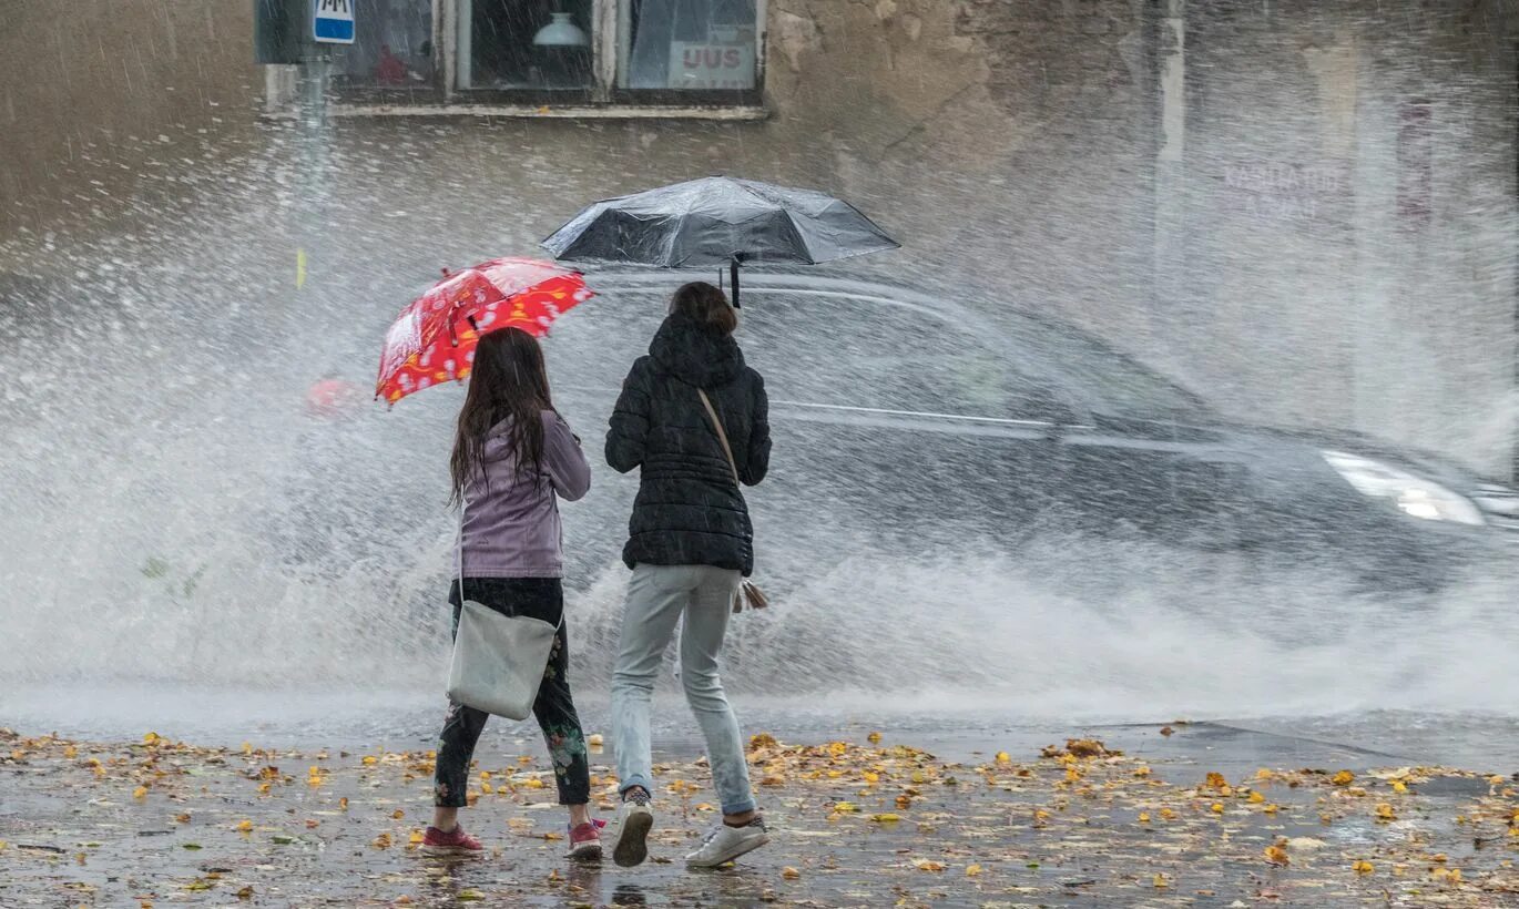
<svg viewBox="0 0 1519 909"><path fill-rule="evenodd" d="M469 390L459 410L454 454L448 461L454 489L448 501L463 502L465 484L485 473L485 446L491 429L510 419L506 443L516 461L518 475L542 481L544 417L553 410L548 370L538 338L519 328L503 328L483 335L475 344ZM486 477L489 492L489 478Z"/></svg>

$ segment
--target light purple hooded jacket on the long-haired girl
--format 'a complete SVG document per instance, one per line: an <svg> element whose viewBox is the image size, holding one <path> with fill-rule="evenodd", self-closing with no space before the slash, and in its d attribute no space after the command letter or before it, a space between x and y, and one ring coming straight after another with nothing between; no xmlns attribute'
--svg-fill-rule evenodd
<svg viewBox="0 0 1519 909"><path fill-rule="evenodd" d="M465 486L460 545L466 578L564 577L564 528L557 496L582 498L591 489L591 464L570 423L544 411L542 481L518 475L507 448L510 420L498 423L485 443L485 475ZM486 492L485 477L489 477Z"/></svg>

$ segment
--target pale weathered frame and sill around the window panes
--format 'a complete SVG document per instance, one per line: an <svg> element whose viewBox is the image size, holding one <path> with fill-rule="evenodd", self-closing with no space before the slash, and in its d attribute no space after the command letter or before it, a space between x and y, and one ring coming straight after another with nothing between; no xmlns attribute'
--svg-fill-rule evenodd
<svg viewBox="0 0 1519 909"><path fill-rule="evenodd" d="M763 120L769 115L761 103L638 103L626 100L626 90L618 83L626 79L627 61L632 53L627 44L632 17L630 0L592 0L591 5L591 39L594 44L594 82L589 90L589 103L544 105L544 103L513 103L472 99L472 90L460 85L460 64L468 65L469 49L463 47L465 12L474 0L431 0L433 6L433 47L437 59L434 74L439 83L436 102L418 103L349 103L339 100L331 105L330 114L334 117L375 117L375 115L488 115L488 117L557 117L557 118L702 118L702 120ZM755 0L755 97L764 91L766 70L766 33L769 24L769 0ZM279 67L269 67L266 85L269 90L269 111L289 108L293 96L284 97L289 91L289 73L276 74ZM671 96L674 96L671 91ZM275 94L278 93L278 96ZM509 96L510 93L500 93ZM621 97L620 97L621 96ZM275 103L278 97L283 103Z"/></svg>

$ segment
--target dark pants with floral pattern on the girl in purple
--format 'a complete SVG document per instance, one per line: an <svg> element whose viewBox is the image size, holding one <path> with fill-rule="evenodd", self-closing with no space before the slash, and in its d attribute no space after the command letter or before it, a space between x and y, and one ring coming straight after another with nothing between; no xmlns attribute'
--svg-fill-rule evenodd
<svg viewBox="0 0 1519 909"><path fill-rule="evenodd" d="M532 616L545 622L559 622L564 615L564 586L559 578L465 578L469 599L489 605L509 616ZM448 602L454 607L453 633L459 633L459 583L448 590ZM564 625L554 636L554 646L544 668L544 683L533 701L533 718L544 730L548 757L554 765L554 782L559 786L559 804L585 804L591 801L591 768L586 763L585 734L580 718L574 712L570 695L570 643ZM433 804L437 807L463 807L469 792L469 763L474 760L475 742L491 716L483 710L448 703L444 731L437 739L437 768L434 771Z"/></svg>

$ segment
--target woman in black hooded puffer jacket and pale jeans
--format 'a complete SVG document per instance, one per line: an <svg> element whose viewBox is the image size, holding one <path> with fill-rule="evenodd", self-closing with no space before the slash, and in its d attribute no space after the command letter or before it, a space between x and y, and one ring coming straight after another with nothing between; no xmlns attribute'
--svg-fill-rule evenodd
<svg viewBox="0 0 1519 909"><path fill-rule="evenodd" d="M744 366L735 328L738 314L722 290L705 282L677 290L649 355L633 363L623 382L606 437L612 467L623 473L641 469L623 549L633 578L612 678L612 733L623 792L612 860L624 867L649 854L649 703L659 660L682 616L681 680L706 738L712 785L723 807L722 824L687 856L687 863L717 867L769 841L755 812L738 721L717 677L734 593L753 571L753 527L735 475L755 486L770 467L764 379Z"/></svg>

